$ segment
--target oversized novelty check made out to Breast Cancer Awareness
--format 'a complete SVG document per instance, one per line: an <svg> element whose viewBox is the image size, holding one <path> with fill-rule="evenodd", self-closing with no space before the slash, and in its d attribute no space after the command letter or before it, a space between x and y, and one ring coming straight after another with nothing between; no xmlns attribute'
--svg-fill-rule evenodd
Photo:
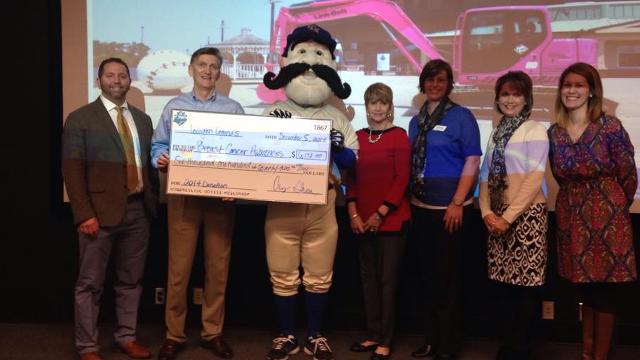
<svg viewBox="0 0 640 360"><path fill-rule="evenodd" d="M330 120L173 110L167 193L326 204Z"/></svg>

